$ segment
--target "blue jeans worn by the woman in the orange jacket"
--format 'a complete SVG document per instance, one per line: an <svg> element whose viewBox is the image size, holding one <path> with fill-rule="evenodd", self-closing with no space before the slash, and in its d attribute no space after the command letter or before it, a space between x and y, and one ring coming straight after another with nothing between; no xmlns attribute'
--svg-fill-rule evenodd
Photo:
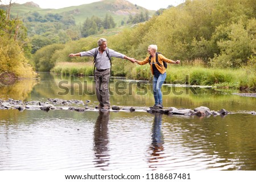
<svg viewBox="0 0 256 182"><path fill-rule="evenodd" d="M166 72L160 74L159 76L155 76L153 78L153 93L156 104L163 104L163 96L162 96L162 85L164 80L166 80Z"/></svg>

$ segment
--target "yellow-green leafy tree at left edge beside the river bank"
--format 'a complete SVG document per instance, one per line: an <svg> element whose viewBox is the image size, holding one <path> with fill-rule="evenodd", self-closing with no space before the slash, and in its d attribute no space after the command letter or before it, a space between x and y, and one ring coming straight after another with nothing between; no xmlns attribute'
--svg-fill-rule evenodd
<svg viewBox="0 0 256 182"><path fill-rule="evenodd" d="M10 20L10 8L0 10L0 73L14 73L18 77L35 77L31 65L24 56L29 48L26 28L17 19ZM6 16L7 15L7 16Z"/></svg>

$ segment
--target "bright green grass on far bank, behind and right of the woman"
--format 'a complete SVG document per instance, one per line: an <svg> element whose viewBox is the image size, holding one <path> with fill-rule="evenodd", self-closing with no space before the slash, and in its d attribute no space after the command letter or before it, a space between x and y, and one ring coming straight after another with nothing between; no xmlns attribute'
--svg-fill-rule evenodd
<svg viewBox="0 0 256 182"><path fill-rule="evenodd" d="M135 65L127 77L135 80L150 80L152 74L148 65ZM201 66L171 65L167 68L166 83L209 85L217 88L256 90L256 75L250 69L219 69Z"/></svg>

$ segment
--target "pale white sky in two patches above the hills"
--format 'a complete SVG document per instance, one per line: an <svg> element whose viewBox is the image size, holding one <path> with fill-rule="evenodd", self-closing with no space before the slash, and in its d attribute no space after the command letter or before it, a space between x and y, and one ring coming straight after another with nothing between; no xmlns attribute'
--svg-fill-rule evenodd
<svg viewBox="0 0 256 182"><path fill-rule="evenodd" d="M69 6L79 6L100 0L11 0L11 2L23 4L25 2L34 2L42 9L60 9ZM148 10L159 10L160 8L167 8L168 5L177 6L185 0L126 0L138 6L142 6ZM9 4L10 0L1 0L0 4Z"/></svg>

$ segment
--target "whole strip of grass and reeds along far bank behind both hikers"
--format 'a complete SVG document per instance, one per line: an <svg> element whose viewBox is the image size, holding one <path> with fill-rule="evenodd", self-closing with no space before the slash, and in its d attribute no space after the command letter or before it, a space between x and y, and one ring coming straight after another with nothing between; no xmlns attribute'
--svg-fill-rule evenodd
<svg viewBox="0 0 256 182"><path fill-rule="evenodd" d="M197 62L197 65L195 64ZM194 61L193 65L183 63L167 68L167 84L188 84L214 86L221 89L238 89L243 92L255 92L255 73L249 68L207 68ZM117 66L118 67L118 66ZM150 80L151 72L148 65L130 64L129 69L112 67L112 76L123 76L134 80ZM92 62L57 63L51 72L61 76L93 76Z"/></svg>

